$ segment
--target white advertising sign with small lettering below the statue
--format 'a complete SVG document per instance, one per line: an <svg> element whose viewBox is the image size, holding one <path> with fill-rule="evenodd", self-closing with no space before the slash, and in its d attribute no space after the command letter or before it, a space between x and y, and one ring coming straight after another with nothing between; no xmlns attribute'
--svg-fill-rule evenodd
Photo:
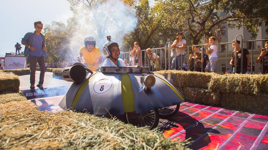
<svg viewBox="0 0 268 150"><path fill-rule="evenodd" d="M26 57L23 55L6 55L6 69L25 69Z"/></svg>

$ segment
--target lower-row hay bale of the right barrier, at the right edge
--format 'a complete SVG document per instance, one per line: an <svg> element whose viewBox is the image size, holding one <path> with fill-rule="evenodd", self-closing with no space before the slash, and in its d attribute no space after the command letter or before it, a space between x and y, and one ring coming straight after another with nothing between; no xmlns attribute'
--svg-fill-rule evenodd
<svg viewBox="0 0 268 150"><path fill-rule="evenodd" d="M268 95L242 95L222 93L220 105L234 110L268 115Z"/></svg>

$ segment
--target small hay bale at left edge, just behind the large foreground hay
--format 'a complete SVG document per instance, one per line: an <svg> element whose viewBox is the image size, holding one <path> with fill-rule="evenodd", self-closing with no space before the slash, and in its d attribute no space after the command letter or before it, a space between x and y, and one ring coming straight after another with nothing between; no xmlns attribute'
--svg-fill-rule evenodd
<svg viewBox="0 0 268 150"><path fill-rule="evenodd" d="M22 93L5 93L0 94L0 103L5 104L11 101L26 101L26 97Z"/></svg>

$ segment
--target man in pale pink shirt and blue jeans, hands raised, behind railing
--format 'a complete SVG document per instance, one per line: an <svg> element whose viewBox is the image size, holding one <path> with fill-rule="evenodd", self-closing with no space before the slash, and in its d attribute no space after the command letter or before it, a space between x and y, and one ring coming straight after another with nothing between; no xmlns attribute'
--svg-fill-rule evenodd
<svg viewBox="0 0 268 150"><path fill-rule="evenodd" d="M184 49L186 46L186 40L182 39L183 33L177 33L177 38L171 45L172 49L176 49L176 65L179 66L179 70L182 70L182 62L184 56ZM176 69L175 58L172 60L171 69Z"/></svg>

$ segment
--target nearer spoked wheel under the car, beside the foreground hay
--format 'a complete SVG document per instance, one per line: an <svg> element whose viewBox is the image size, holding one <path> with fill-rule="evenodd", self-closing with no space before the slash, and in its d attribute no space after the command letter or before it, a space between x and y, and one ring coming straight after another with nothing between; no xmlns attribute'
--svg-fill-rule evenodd
<svg viewBox="0 0 268 150"><path fill-rule="evenodd" d="M155 128L159 123L159 113L157 109L140 114L136 114L136 112L125 112L124 118L126 123L139 127L149 126L149 129Z"/></svg>

